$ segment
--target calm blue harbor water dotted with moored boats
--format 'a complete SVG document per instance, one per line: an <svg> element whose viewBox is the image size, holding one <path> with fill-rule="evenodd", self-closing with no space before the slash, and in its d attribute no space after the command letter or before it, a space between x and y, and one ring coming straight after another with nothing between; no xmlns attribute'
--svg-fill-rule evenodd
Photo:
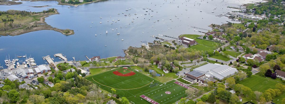
<svg viewBox="0 0 285 104"><path fill-rule="evenodd" d="M155 38L150 37L152 35L164 34L177 37L180 34L201 34L194 31L191 26L211 29L208 27L211 23L226 23L226 21L229 21L227 17L216 17L215 15L237 11L237 9L227 8L227 6L237 7L253 0L221 1L109 0L78 7L57 5L58 2L56 1L21 1L23 2L21 5L0 5L0 11L15 9L37 12L48 8L56 8L60 14L47 17L46 23L60 29L72 29L75 32L74 35L66 36L52 30L41 30L19 36L1 36L0 64L5 65L3 60L6 56L8 57L8 54L11 58L14 58L15 55L23 56L27 54L27 56L34 57L37 64L46 62L41 57L52 56L56 53L65 54L68 60L76 57L76 61L86 60L85 55L88 57L101 56L101 58L125 56L122 49L127 49L129 46L139 47L141 41L152 42L155 40ZM43 8L29 7L43 5L51 6ZM151 8L153 12L147 7ZM125 11L129 8L131 10ZM213 10L214 8L216 9ZM212 11L214 13L211 13ZM131 16L124 16L122 12L126 15L130 13ZM120 15L117 13L120 13ZM134 15L134 13L137 13L137 15ZM144 15L145 13L147 15ZM100 16L103 18L100 19ZM120 19L120 21L117 21L117 19ZM165 21L162 21L162 19ZM170 21L170 19L173 21ZM117 21L117 23L112 20ZM156 22L154 23L154 21ZM120 26L123 28L120 28ZM106 30L108 30L108 34L105 33ZM206 32L205 30L202 31ZM120 34L117 35L117 33ZM121 41L121 39L124 39L124 41Z"/></svg>

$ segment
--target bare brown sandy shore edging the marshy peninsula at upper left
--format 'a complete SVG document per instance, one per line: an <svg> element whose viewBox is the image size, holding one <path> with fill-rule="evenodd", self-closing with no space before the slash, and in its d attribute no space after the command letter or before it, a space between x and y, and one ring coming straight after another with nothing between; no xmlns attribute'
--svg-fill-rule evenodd
<svg viewBox="0 0 285 104"><path fill-rule="evenodd" d="M34 27L32 29L29 29L29 30L18 29L18 30L14 30L12 32L0 33L0 36L16 36L16 35L21 35L21 34L25 34L28 32L39 31L39 30L54 30L54 31L60 32L64 35L74 34L74 30L70 30L70 33L66 34L66 33L64 33L63 29L52 27L45 22L46 17L49 17L50 15L56 15L56 14L59 14L57 9L55 9L55 13L43 15L42 17L40 17L39 21L34 21L34 22L29 23L29 25L37 25L37 27ZM38 14L38 15L42 15L42 14Z"/></svg>

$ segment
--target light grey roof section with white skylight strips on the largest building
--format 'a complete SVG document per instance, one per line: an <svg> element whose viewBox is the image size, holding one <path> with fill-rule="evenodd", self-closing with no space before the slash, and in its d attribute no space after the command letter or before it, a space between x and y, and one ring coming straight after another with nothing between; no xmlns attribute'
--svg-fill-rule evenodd
<svg viewBox="0 0 285 104"><path fill-rule="evenodd" d="M230 76L235 72L238 72L235 68L232 68L224 64L222 66L210 70L207 73L211 74L212 76L215 76L218 79L224 79L225 77Z"/></svg>

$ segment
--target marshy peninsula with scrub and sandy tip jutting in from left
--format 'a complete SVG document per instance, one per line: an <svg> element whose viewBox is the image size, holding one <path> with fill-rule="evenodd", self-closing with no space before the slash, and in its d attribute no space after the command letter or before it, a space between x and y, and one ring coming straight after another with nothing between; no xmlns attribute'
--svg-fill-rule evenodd
<svg viewBox="0 0 285 104"><path fill-rule="evenodd" d="M0 11L0 36L15 36L38 30L54 30L65 35L74 34L74 30L58 29L46 24L45 18L55 14L58 14L56 9L42 12Z"/></svg>

